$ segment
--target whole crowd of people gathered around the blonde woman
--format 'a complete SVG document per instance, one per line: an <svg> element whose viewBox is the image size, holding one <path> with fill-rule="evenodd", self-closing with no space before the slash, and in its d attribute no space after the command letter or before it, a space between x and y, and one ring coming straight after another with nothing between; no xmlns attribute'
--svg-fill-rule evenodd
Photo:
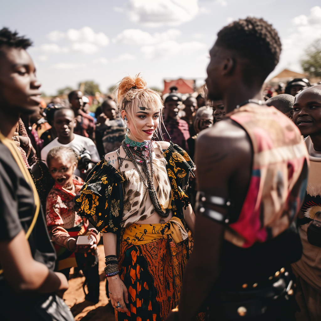
<svg viewBox="0 0 321 321"><path fill-rule="evenodd" d="M71 267L97 303L101 242L117 321L321 319L321 85L263 87L272 25L221 29L200 92L126 76L95 113L41 100L30 45L0 30L1 319L74 320Z"/></svg>

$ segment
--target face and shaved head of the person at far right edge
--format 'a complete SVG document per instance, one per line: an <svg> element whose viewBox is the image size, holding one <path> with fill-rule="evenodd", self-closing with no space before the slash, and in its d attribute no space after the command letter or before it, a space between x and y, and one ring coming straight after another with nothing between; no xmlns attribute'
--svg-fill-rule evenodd
<svg viewBox="0 0 321 321"><path fill-rule="evenodd" d="M293 121L302 135L321 134L321 86L305 89L296 96Z"/></svg>

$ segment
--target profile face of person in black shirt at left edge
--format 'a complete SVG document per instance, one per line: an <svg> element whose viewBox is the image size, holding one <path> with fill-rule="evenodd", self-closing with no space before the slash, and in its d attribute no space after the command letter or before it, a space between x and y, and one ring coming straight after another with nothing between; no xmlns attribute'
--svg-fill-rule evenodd
<svg viewBox="0 0 321 321"><path fill-rule="evenodd" d="M10 113L33 114L39 109L41 84L26 50L0 48L0 106Z"/></svg>

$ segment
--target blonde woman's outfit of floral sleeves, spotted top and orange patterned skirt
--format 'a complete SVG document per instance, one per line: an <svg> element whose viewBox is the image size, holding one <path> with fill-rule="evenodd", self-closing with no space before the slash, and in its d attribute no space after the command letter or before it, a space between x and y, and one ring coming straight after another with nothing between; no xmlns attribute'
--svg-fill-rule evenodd
<svg viewBox="0 0 321 321"><path fill-rule="evenodd" d="M141 224L139 220L152 215L154 208L136 169L126 159L117 171L107 161L100 161L76 197L80 215L98 230L120 236L119 274L129 292L126 306L130 313L115 310L117 321L165 320L178 304L192 247L183 207L188 205L184 189L194 164L173 143L163 156L156 144L154 151L154 187L162 207L172 209L173 218L168 222Z"/></svg>

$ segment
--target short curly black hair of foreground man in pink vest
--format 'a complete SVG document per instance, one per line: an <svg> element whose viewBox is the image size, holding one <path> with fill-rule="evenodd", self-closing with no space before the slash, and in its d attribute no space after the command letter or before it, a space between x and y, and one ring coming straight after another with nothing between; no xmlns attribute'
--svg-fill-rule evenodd
<svg viewBox="0 0 321 321"><path fill-rule="evenodd" d="M217 34L216 45L236 51L250 61L244 73L244 82L248 85L252 85L254 79L265 80L278 64L282 47L272 25L254 17L225 26Z"/></svg>

